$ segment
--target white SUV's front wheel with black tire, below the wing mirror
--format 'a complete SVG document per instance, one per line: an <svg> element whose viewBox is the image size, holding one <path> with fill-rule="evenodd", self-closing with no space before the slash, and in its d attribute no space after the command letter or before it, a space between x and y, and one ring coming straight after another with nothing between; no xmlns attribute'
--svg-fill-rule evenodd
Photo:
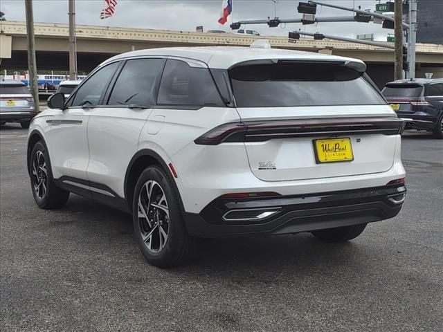
<svg viewBox="0 0 443 332"><path fill-rule="evenodd" d="M35 143L30 154L29 167L30 185L35 203L42 209L62 208L68 201L69 192L55 185L48 150L42 141ZM46 168L46 172L43 168Z"/></svg>

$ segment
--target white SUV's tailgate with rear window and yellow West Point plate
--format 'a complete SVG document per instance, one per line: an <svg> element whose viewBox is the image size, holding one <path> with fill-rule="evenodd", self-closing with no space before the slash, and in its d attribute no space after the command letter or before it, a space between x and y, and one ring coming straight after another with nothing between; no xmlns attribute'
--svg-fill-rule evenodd
<svg viewBox="0 0 443 332"><path fill-rule="evenodd" d="M397 131L382 132L399 120L361 73L338 64L279 62L235 67L229 75L257 178L352 176L392 166ZM338 157L347 149L341 160L324 160L317 151L336 144Z"/></svg>

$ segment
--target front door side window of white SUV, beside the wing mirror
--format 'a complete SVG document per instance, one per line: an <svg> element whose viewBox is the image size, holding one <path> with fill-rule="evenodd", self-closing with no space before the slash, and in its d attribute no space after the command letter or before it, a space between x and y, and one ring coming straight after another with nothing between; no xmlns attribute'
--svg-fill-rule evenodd
<svg viewBox="0 0 443 332"><path fill-rule="evenodd" d="M101 68L89 77L75 93L73 101L69 103L69 106L98 104L98 102L100 102L100 97L105 93L107 84L109 83L112 74L114 74L114 71L116 71L117 66L118 62L114 62L113 64Z"/></svg>

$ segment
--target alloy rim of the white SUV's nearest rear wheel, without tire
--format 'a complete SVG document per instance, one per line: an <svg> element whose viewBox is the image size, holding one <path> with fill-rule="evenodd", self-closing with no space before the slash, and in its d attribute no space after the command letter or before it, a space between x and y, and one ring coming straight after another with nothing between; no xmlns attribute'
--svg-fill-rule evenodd
<svg viewBox="0 0 443 332"><path fill-rule="evenodd" d="M138 195L138 223L143 243L151 252L161 252L168 241L168 201L159 183L150 180Z"/></svg>

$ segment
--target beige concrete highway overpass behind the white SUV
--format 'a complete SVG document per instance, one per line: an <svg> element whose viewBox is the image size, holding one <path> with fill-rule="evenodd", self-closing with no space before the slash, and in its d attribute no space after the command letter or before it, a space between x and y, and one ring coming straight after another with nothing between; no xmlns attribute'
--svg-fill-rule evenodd
<svg viewBox="0 0 443 332"><path fill-rule="evenodd" d="M269 39L272 47L356 57L368 64L368 73L377 84L393 78L393 50L377 46L337 42L333 40L300 39L289 43L287 37L248 36L234 33L196 33L186 31L77 26L78 71L91 71L103 60L129 50L165 46L249 46L257 38ZM37 68L64 70L69 68L69 28L67 24L35 24ZM1 68L25 69L26 24L0 21ZM443 77L443 45L417 44L417 77L424 73Z"/></svg>

